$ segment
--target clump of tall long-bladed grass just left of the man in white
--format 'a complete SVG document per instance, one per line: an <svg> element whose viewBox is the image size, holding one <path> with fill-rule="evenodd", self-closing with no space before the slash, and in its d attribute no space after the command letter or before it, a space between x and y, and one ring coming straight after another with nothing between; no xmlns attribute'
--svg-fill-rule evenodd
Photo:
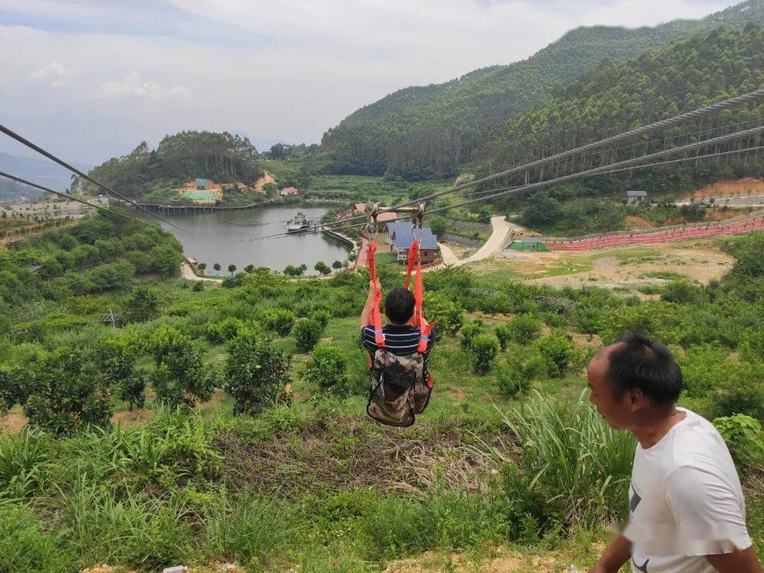
<svg viewBox="0 0 764 573"><path fill-rule="evenodd" d="M518 440L503 459L507 497L539 522L595 526L625 513L636 442L616 432L585 398L572 405L536 393L504 416Z"/></svg>

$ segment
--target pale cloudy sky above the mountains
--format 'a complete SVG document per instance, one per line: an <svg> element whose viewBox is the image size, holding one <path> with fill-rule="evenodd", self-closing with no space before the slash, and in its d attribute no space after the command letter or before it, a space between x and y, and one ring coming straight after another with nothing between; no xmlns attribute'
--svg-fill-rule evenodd
<svg viewBox="0 0 764 573"><path fill-rule="evenodd" d="M186 129L318 143L397 89L523 60L566 31L735 0L0 0L0 123L97 164ZM31 152L8 138L0 152Z"/></svg>

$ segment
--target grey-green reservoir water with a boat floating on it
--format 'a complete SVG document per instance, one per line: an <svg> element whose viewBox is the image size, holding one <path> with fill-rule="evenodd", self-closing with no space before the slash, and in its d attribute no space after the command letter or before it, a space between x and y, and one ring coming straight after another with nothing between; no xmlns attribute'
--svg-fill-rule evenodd
<svg viewBox="0 0 764 573"><path fill-rule="evenodd" d="M219 263L221 276L228 274L229 264L244 270L248 264L283 270L287 264L299 267L306 264L306 274L317 274L313 266L324 261L345 261L351 251L350 244L323 233L290 235L264 241L244 241L285 232L286 221L296 212L306 217L320 218L329 209L321 206L273 206L241 211L207 212L196 215L168 215L163 219L190 231L183 233L166 223L154 219L163 229L170 231L183 244L186 257L206 263L205 274L215 274L212 265Z"/></svg>

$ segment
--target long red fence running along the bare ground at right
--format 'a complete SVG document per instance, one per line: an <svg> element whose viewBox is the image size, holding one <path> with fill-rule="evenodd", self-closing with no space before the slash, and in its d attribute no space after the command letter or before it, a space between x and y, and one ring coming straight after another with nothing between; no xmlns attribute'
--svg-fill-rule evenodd
<svg viewBox="0 0 764 573"><path fill-rule="evenodd" d="M588 251L619 244L652 244L686 239L714 237L717 235L740 235L764 229L764 216L724 224L708 224L695 227L672 228L654 233L607 235L598 238L571 239L570 241L544 241L550 251Z"/></svg>

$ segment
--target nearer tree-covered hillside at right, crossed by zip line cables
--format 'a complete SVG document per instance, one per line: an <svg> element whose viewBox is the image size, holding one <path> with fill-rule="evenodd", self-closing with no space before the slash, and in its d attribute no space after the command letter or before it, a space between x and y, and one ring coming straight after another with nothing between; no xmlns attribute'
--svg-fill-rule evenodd
<svg viewBox="0 0 764 573"><path fill-rule="evenodd" d="M718 81L720 78L730 79ZM620 66L604 64L584 74L548 104L490 128L481 157L482 169L478 171L488 172L498 166L549 156L637 125L751 92L762 84L762 28L751 26L747 31L718 29L710 34L696 34L677 44L642 53L636 60ZM667 145L685 145L756 127L761 125L762 116L762 106L742 106L711 119L704 118L694 125L662 131L649 140L621 145L607 154L592 155L587 158L587 168L603 161L612 163L634 154L659 151ZM553 168L564 170L567 166ZM714 158L639 170L633 180L624 173L598 176L579 183L576 194L586 194L587 189L623 191L627 185L644 185L656 193L661 189L691 189L720 176L762 173L764 162L758 155Z"/></svg>

